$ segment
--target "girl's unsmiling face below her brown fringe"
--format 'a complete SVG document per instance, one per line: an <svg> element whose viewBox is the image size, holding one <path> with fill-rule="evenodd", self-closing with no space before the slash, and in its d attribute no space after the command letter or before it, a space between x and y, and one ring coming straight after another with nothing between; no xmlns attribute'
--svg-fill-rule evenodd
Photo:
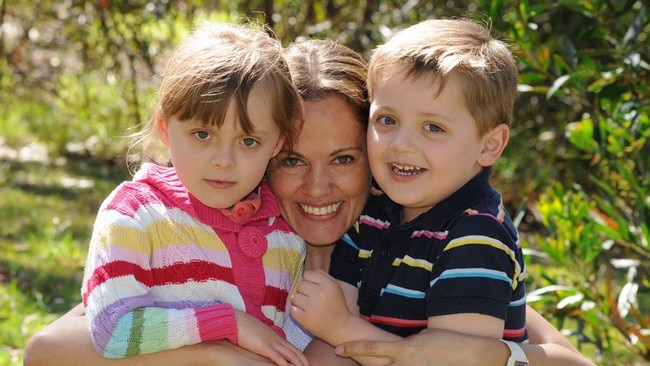
<svg viewBox="0 0 650 366"><path fill-rule="evenodd" d="M254 126L245 133L231 102L224 124L201 121L158 121L159 136L187 190L212 208L229 208L260 183L269 160L282 147L280 129L271 118L271 106L262 85L251 90L248 116Z"/></svg>

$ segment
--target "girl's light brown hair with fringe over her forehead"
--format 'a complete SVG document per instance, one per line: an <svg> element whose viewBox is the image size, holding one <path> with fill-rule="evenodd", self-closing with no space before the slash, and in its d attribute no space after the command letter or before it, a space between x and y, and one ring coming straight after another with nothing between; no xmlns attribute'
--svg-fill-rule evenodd
<svg viewBox="0 0 650 366"><path fill-rule="evenodd" d="M290 148L303 115L282 52L281 43L262 25L205 23L174 50L164 67L155 109L158 118L198 120L221 127L234 101L239 124L250 133L248 98L253 87L261 85L271 101L269 117ZM168 163L155 116L135 135L133 148L140 161Z"/></svg>

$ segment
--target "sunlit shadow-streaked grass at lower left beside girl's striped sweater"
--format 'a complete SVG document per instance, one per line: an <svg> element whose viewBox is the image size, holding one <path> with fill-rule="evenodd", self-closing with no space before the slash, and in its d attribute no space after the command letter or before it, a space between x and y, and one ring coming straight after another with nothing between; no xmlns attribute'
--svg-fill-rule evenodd
<svg viewBox="0 0 650 366"><path fill-rule="evenodd" d="M0 365L80 301L95 212L124 179L114 161L0 158Z"/></svg>

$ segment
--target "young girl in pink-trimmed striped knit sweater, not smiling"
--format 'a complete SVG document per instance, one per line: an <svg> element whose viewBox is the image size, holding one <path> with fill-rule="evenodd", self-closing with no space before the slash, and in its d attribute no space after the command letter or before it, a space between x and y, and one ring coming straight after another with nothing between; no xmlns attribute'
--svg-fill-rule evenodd
<svg viewBox="0 0 650 366"><path fill-rule="evenodd" d="M261 27L206 24L176 49L134 145L160 165L143 163L96 218L82 297L99 353L226 338L306 363L281 329L304 241L262 181L301 120L282 47Z"/></svg>

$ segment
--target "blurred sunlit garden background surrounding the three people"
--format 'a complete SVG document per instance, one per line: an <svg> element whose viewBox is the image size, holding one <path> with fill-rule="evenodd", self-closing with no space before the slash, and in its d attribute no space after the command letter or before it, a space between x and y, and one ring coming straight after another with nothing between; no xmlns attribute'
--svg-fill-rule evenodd
<svg viewBox="0 0 650 366"><path fill-rule="evenodd" d="M0 365L80 301L95 212L166 55L203 20L366 58L435 17L491 23L520 64L494 184L516 218L528 302L599 365L650 365L650 15L643 0L0 0Z"/></svg>

